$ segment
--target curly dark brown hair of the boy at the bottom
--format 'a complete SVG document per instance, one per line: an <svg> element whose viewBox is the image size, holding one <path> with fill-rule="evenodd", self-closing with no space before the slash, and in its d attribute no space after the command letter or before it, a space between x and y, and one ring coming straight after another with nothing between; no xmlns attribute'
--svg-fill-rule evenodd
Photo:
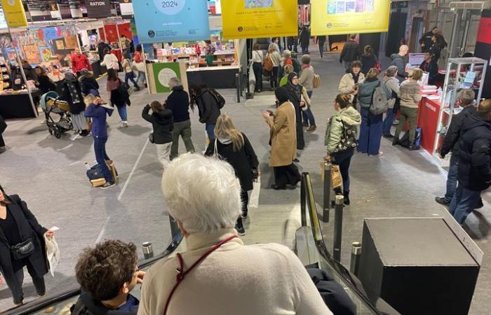
<svg viewBox="0 0 491 315"><path fill-rule="evenodd" d="M75 266L76 281L96 300L111 300L124 283L131 282L136 263L135 244L109 239L83 249Z"/></svg>

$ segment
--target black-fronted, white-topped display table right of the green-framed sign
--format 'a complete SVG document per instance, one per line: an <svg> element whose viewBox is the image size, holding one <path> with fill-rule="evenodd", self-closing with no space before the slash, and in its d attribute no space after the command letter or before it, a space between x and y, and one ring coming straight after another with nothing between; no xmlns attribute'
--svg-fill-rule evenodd
<svg viewBox="0 0 491 315"><path fill-rule="evenodd" d="M235 75L239 66L206 66L187 69L189 85L207 85L215 89L231 89L236 87Z"/></svg>

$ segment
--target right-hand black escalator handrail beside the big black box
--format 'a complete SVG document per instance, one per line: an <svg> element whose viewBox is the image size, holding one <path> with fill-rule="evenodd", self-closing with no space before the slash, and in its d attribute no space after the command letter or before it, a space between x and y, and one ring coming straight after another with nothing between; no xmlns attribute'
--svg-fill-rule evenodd
<svg viewBox="0 0 491 315"><path fill-rule="evenodd" d="M344 267L340 262L337 262L334 258L332 258L332 255L330 255L327 247L325 246L321 230L321 223L318 219L318 212L314 199L314 190L312 189L310 174L308 172L302 173L301 190L302 195L304 195L307 200L306 205L309 208L312 234L314 235L314 242L316 244L319 255L321 255L325 262L328 262L328 265L330 265L330 267L332 267L332 269L334 269L337 274L339 274L339 278L342 279L344 284L358 296L358 298L365 304L366 307L368 307L377 315L383 314L381 311L379 311L379 309L377 309L377 307L372 304L372 302L370 302L358 278L356 278L354 274L351 274L351 272L349 272L349 270L346 269L346 267ZM307 211L307 207L300 207L302 211L302 218L306 216L305 211Z"/></svg>

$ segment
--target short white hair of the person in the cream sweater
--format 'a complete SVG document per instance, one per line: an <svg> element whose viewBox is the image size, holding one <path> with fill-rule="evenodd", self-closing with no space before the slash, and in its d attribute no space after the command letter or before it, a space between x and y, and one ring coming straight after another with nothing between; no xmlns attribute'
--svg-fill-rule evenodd
<svg viewBox="0 0 491 315"><path fill-rule="evenodd" d="M168 211L184 230L211 234L233 228L241 210L241 184L229 163L184 154L163 173L162 192Z"/></svg>

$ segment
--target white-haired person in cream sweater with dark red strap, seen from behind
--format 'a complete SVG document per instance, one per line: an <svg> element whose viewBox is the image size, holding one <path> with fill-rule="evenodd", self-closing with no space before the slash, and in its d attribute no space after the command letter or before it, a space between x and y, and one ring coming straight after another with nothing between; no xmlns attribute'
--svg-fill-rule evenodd
<svg viewBox="0 0 491 315"><path fill-rule="evenodd" d="M149 269L139 315L332 314L289 248L238 238L241 184L227 162L181 155L162 187L187 251Z"/></svg>

